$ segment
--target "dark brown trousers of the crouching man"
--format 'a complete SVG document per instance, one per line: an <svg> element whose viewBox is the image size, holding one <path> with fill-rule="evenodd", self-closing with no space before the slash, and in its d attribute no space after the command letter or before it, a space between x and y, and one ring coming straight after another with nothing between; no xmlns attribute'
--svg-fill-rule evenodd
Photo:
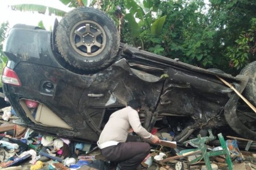
<svg viewBox="0 0 256 170"><path fill-rule="evenodd" d="M150 145L143 142L126 142L101 149L107 160L118 162L122 170L135 170L150 153Z"/></svg>

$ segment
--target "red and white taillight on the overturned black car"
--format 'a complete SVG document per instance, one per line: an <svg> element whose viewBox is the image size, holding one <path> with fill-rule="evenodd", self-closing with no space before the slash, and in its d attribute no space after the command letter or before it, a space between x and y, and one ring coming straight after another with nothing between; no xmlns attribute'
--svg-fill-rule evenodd
<svg viewBox="0 0 256 170"><path fill-rule="evenodd" d="M21 86L20 80L17 74L10 68L4 67L2 72L2 82L13 86Z"/></svg>

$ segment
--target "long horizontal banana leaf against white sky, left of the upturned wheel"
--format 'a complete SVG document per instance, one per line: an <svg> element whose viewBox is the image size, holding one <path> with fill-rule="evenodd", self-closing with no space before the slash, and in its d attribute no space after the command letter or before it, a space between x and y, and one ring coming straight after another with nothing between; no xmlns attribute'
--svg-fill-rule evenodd
<svg viewBox="0 0 256 170"><path fill-rule="evenodd" d="M19 5L11 5L13 10L18 11L37 11L41 14L45 14L47 6L44 5L36 5L36 4L19 4ZM48 7L49 15L55 14L56 16L64 16L66 14L65 11L58 10L56 8Z"/></svg>

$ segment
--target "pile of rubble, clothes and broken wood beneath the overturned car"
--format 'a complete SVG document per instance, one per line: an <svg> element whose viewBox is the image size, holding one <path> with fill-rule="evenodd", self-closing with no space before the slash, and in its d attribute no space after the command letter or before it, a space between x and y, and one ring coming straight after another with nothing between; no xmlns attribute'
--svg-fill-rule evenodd
<svg viewBox="0 0 256 170"><path fill-rule="evenodd" d="M11 107L2 109L0 115L0 169L103 169L115 167L104 160L96 143L72 141L66 138L47 136L29 128L15 125L18 117ZM151 153L141 163L140 169L185 170L185 169L256 169L255 141L219 133L218 139L209 129L209 136L198 135L183 143L173 142L172 132L153 134L162 140L161 145L151 145ZM132 134L131 134L132 135ZM135 134L133 134L135 135ZM242 149L240 151L239 145Z"/></svg>

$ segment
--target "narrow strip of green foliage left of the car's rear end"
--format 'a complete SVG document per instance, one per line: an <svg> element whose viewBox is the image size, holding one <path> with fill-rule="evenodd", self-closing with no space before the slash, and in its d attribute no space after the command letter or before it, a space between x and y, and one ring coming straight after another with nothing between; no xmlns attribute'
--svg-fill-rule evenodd
<svg viewBox="0 0 256 170"><path fill-rule="evenodd" d="M0 27L0 71L2 70L8 60L8 58L3 53L3 41L5 39L5 34L8 30L8 22L3 22ZM0 74L0 87L2 87L1 74Z"/></svg>

